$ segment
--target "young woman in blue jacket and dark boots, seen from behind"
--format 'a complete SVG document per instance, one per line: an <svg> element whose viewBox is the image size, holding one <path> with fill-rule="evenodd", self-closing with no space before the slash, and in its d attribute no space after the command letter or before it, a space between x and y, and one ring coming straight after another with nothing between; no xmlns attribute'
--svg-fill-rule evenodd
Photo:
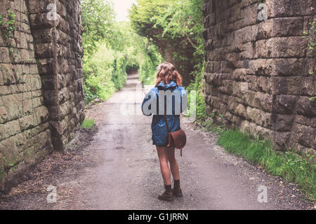
<svg viewBox="0 0 316 224"><path fill-rule="evenodd" d="M170 91L168 91L170 90ZM175 92L176 91L176 92ZM164 97L159 94L164 94ZM167 96L169 94L169 97ZM173 64L164 62L158 66L156 86L145 96L142 104L142 110L145 116L152 118L152 144L157 148L160 162L160 170L164 179L165 191L159 195L159 200L173 201L173 196L182 197L180 188L180 174L178 163L175 158L175 148L167 147L168 131L164 119L166 113L170 132L180 130L180 113L187 105L183 107L183 96L186 97L185 89L182 87L180 74ZM164 106L162 106L162 101ZM159 106L162 108L159 110ZM170 109L172 107L172 109ZM171 113L170 113L171 112ZM168 166L170 164L170 169ZM173 189L171 189L171 174L173 176Z"/></svg>

